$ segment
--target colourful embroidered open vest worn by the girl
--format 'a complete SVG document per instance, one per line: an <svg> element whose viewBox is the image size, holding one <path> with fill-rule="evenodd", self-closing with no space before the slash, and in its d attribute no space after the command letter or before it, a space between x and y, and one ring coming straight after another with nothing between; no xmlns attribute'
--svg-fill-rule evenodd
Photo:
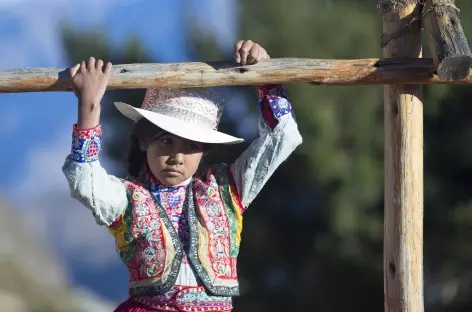
<svg viewBox="0 0 472 312"><path fill-rule="evenodd" d="M146 183L122 181L129 205L109 230L128 267L130 295L162 294L175 283L182 262L182 244ZM203 176L195 176L186 201L191 265L214 295L239 295L237 256L243 207L229 167L214 166Z"/></svg>

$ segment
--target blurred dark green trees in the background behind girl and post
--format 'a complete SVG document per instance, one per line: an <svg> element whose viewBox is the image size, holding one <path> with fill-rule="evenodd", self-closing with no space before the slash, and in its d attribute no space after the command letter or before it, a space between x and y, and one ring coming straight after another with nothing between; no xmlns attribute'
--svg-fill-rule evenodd
<svg viewBox="0 0 472 312"><path fill-rule="evenodd" d="M462 16L472 4L458 4ZM375 1L240 0L238 38L272 57L379 57ZM195 60L230 59L211 33L187 21ZM462 20L472 38L472 20ZM100 33L64 30L71 62L90 55L114 64L158 62L131 39L110 47ZM383 309L383 88L287 86L304 144L276 172L245 214L240 256L243 296L236 311ZM222 88L246 99L257 116L254 87ZM425 87L425 303L430 311L470 311L472 284L472 91ZM112 102L139 105L144 90L108 92L102 113L105 152L124 161L131 123ZM231 105L229 103L228 105ZM236 104L234 104L236 105ZM236 133L242 116L225 114ZM235 159L245 146L211 161ZM125 168L125 166L123 167ZM121 174L125 174L123 171Z"/></svg>

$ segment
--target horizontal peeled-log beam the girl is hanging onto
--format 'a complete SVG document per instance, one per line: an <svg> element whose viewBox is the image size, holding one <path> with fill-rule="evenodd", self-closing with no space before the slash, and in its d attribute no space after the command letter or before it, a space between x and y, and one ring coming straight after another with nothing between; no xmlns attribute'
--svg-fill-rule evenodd
<svg viewBox="0 0 472 312"><path fill-rule="evenodd" d="M308 83L355 86L380 84L472 84L442 81L432 59L327 60L279 58L256 65L230 62L114 65L108 90L187 88L205 86ZM70 91L64 68L24 68L0 71L0 93Z"/></svg>

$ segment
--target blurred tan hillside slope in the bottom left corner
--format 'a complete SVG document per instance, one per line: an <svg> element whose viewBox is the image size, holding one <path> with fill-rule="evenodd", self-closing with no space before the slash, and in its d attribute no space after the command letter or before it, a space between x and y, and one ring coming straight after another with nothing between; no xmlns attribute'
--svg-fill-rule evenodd
<svg viewBox="0 0 472 312"><path fill-rule="evenodd" d="M113 311L67 285L61 265L1 198L0 281L2 312Z"/></svg>

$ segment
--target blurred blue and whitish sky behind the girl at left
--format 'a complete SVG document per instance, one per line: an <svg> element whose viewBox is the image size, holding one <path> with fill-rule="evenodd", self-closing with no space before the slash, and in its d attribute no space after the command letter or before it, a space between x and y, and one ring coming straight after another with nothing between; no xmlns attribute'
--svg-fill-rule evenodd
<svg viewBox="0 0 472 312"><path fill-rule="evenodd" d="M61 20L76 29L105 29L117 45L137 34L148 53L187 61L182 52L187 14L197 15L220 44L234 42L232 0L0 0L0 69L70 66L59 38ZM51 248L72 283L120 300L126 272L112 238L70 198L61 172L76 121L73 93L0 94L0 107L0 195Z"/></svg>

